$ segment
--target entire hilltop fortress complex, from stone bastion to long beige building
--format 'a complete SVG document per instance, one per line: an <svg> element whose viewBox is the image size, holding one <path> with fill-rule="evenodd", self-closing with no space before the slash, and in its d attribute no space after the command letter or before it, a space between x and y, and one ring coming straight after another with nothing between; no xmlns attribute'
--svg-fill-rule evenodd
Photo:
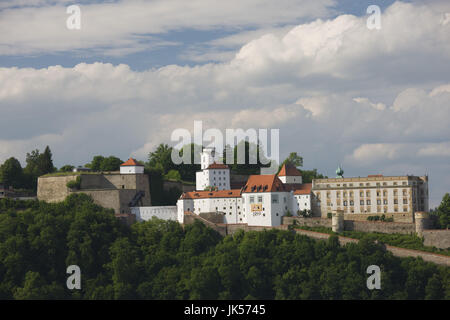
<svg viewBox="0 0 450 320"><path fill-rule="evenodd" d="M427 176L344 177L339 167L336 178L303 183L301 172L285 164L276 175L251 175L240 188L230 188L230 169L217 163L213 149L201 154L196 173L196 190L184 192L176 206L152 207L149 178L144 167L130 158L119 172L76 172L46 175L38 180L38 199L63 201L69 194L85 193L94 202L116 214L132 215L137 221L156 216L184 223L185 215L213 215L225 224L279 226L283 216L326 218L343 212L348 220L367 220L385 215L396 222L414 222L416 212L428 207ZM79 186L69 188L69 181Z"/></svg>

